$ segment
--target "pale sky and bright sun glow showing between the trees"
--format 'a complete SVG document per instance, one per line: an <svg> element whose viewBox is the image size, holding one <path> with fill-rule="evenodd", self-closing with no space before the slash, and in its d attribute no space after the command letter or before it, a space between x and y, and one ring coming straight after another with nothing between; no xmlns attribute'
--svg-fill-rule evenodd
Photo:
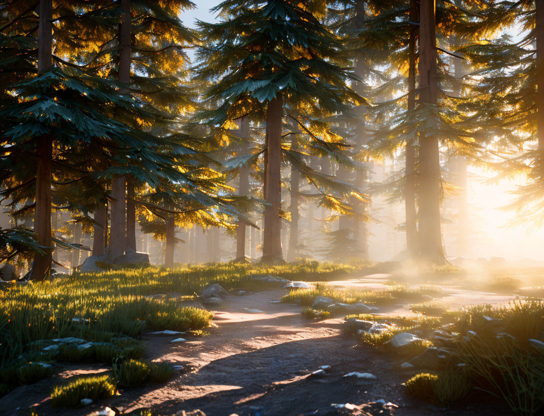
<svg viewBox="0 0 544 416"><path fill-rule="evenodd" d="M184 12L180 18L189 27L195 27L197 19L211 22L215 20L215 14L210 13L209 9L218 2L219 0L193 0L196 8ZM192 51L188 51L188 54L193 58ZM507 260L530 258L544 261L544 229L535 229L528 234L521 227L505 228L514 213L505 212L501 208L512 200L510 192L516 189L517 184L523 183L523 180L504 180L490 185L485 183L486 177L490 176L491 173L469 168L468 203L473 212L474 225L471 257L497 256ZM446 236L447 240L452 238ZM372 245L372 238L369 244ZM453 252L448 254L455 256Z"/></svg>

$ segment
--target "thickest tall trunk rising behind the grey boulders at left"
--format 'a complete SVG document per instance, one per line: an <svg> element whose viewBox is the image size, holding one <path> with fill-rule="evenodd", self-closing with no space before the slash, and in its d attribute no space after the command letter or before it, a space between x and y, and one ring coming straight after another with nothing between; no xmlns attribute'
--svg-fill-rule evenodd
<svg viewBox="0 0 544 416"><path fill-rule="evenodd" d="M121 24L119 25L119 81L127 85L131 81L131 0L121 0ZM125 253L126 235L126 177L112 179L111 226L108 245L108 261Z"/></svg>

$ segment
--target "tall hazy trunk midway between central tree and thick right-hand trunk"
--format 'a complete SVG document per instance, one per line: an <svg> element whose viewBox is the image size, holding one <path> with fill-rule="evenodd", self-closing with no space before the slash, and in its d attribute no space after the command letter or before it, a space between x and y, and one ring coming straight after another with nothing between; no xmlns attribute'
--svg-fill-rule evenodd
<svg viewBox="0 0 544 416"><path fill-rule="evenodd" d="M364 11L365 0L357 0L355 3L355 28L361 30L364 28L364 22L366 20L366 12ZM364 57L362 53L357 57L357 64L355 67L355 73L358 77L364 79L367 75L366 63L364 62ZM363 94L364 84L355 83L354 89L359 94ZM364 105L360 105L357 108L358 122L355 127L355 150L362 151L363 146L367 142L367 135L365 132L366 124L366 108ZM367 171L365 168L358 168L355 170L355 188L363 189L366 188L367 181ZM368 259L368 229L367 223L361 218L367 212L366 203L358 200L357 198L352 199L355 213L358 216L355 216L353 219L353 240L357 248L357 256L362 259Z"/></svg>

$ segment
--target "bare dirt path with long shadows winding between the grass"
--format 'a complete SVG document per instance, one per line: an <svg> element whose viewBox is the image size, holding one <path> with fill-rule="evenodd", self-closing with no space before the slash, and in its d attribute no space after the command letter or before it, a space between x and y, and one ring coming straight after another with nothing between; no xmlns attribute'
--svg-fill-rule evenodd
<svg viewBox="0 0 544 416"><path fill-rule="evenodd" d="M375 285L379 288L387 275L365 276L332 285ZM455 304L504 303L512 296L462 291L446 287L447 300ZM465 293L466 292L466 293ZM300 314L301 307L275 303L283 290L267 290L231 296L223 306L215 307L215 326L204 337L187 337L172 343L175 337L144 333L149 345L148 359L169 361L186 369L169 383L120 390L120 395L81 409L58 409L48 404L51 386L61 378L76 374L107 371L101 365L65 365L63 372L38 383L22 386L0 399L1 415L28 415L28 407L40 404L35 414L59 416L91 415L106 406L122 414L150 408L153 416L174 415L182 410L201 409L207 416L296 416L326 414L333 403L362 403L383 399L398 406L394 414L403 415L494 415L505 413L492 400L463 402L450 408L411 399L401 383L411 374L393 369L391 359L370 346L357 346L345 334L342 317L312 321ZM395 310L407 311L399 305ZM391 309L391 308L390 308ZM382 311L380 311L382 312ZM185 337L182 335L182 337ZM326 375L311 376L312 371L330 365ZM373 382L344 377L352 371L369 372ZM481 399L481 398L480 398ZM496 402L496 401L495 401ZM319 411L318 413L313 413ZM138 414L135 412L133 414Z"/></svg>

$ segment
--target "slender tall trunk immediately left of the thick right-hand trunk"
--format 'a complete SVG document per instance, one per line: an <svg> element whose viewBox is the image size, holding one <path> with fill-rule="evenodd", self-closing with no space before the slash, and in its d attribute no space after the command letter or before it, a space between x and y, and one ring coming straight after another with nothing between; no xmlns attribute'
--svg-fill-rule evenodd
<svg viewBox="0 0 544 416"><path fill-rule="evenodd" d="M417 1L410 0L410 21L418 19ZM408 43L409 72L408 72L408 114L416 108L416 35L417 26L410 27ZM406 251L410 257L417 256L417 211L416 211L416 143L408 140L406 143L406 167L404 174L404 203L406 210Z"/></svg>

